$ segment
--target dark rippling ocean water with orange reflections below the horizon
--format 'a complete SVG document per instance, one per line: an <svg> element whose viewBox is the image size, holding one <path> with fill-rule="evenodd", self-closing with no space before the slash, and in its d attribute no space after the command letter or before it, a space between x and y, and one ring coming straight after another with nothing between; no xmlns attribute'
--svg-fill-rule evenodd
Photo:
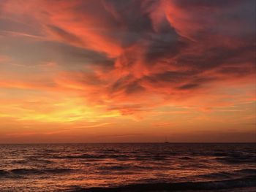
<svg viewBox="0 0 256 192"><path fill-rule="evenodd" d="M256 191L255 146L0 145L0 191Z"/></svg>

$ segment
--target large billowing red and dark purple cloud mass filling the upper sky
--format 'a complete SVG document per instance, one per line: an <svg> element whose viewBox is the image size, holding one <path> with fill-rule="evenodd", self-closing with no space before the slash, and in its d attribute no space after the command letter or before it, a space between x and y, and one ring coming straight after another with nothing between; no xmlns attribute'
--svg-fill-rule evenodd
<svg viewBox="0 0 256 192"><path fill-rule="evenodd" d="M221 83L253 81L255 1L41 0L26 1L24 9L20 2L1 3L2 12L22 15L23 23L33 15L29 25L38 26L45 40L26 50L12 42L17 50L5 55L23 63L56 62L62 67L56 86L106 110L129 115L200 100ZM23 24L12 24L13 33L21 33ZM20 56L29 54L36 56Z"/></svg>

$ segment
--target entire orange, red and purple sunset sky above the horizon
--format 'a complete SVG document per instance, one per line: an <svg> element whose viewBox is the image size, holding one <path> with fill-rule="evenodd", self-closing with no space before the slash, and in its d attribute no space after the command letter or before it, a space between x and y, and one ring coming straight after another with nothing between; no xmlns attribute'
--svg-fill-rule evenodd
<svg viewBox="0 0 256 192"><path fill-rule="evenodd" d="M0 142L255 142L255 0L1 0Z"/></svg>

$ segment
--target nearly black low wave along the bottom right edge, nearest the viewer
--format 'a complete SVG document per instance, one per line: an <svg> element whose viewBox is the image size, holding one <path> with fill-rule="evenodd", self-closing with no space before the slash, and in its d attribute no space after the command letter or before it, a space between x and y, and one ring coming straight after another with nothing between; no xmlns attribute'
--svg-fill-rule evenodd
<svg viewBox="0 0 256 192"><path fill-rule="evenodd" d="M145 183L131 184L113 188L75 188L72 192L129 192L129 191L187 191L187 190L225 190L232 188L256 187L256 176L242 177L234 180L216 180L208 182L184 182L184 183Z"/></svg>

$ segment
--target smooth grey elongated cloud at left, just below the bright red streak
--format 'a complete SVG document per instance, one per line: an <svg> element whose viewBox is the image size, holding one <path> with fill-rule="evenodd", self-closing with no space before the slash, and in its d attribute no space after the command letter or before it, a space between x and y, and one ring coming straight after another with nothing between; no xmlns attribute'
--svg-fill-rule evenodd
<svg viewBox="0 0 256 192"><path fill-rule="evenodd" d="M13 39L13 38L12 38ZM24 43L26 49L23 48ZM101 66L102 69L113 69L114 61L105 53L86 50L61 42L33 41L27 42L16 38L10 42L9 39L1 41L5 48L1 50L4 55L10 56L17 64L31 66L41 62L56 62L63 67L78 68L78 66ZM9 46L8 46L9 45Z"/></svg>

